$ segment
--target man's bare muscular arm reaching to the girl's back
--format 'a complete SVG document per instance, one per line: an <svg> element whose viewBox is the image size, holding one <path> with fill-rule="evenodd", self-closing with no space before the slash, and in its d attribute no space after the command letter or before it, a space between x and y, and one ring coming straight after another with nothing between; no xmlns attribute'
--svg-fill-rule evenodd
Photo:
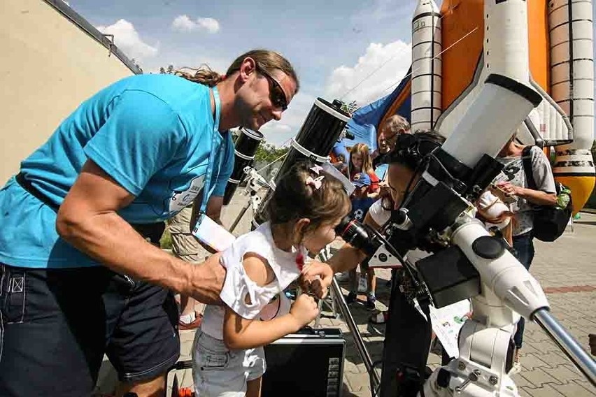
<svg viewBox="0 0 596 397"><path fill-rule="evenodd" d="M144 240L118 210L134 200L88 160L58 211L56 229L68 243L111 268L204 303L219 301L225 269L219 256L190 265Z"/></svg>

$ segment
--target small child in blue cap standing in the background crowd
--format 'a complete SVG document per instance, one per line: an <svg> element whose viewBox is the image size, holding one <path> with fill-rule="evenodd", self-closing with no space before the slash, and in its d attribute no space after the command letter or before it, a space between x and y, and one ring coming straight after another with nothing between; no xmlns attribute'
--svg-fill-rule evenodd
<svg viewBox="0 0 596 397"><path fill-rule="evenodd" d="M357 219L360 222L364 221L364 215L367 215L369 208L371 205L376 201L376 198L371 198L369 196L369 189L371 186L371 178L370 175L366 173L356 173L353 175L352 183L355 186L354 192L350 197L352 201L352 217ZM375 287L376 287L376 277L374 274L374 269L369 268L368 266L368 259L363 261L360 264L360 271L362 273L367 273L367 308L374 309L376 308L376 296L375 296ZM350 292L346 297L346 303L353 303L356 300L358 284L356 277L356 269L350 270ZM360 280L362 277L360 276Z"/></svg>

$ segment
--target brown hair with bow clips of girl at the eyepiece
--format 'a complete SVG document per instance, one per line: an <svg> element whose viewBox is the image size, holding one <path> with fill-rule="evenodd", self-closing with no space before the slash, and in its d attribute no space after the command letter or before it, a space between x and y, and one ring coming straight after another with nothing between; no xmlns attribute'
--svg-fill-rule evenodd
<svg viewBox="0 0 596 397"><path fill-rule="evenodd" d="M313 170L311 161L299 161L278 180L273 196L267 203L267 215L271 224L295 222L308 218L304 233L317 229L325 222L343 217L350 211L350 198L343 184L329 173ZM306 183L322 176L320 187Z"/></svg>

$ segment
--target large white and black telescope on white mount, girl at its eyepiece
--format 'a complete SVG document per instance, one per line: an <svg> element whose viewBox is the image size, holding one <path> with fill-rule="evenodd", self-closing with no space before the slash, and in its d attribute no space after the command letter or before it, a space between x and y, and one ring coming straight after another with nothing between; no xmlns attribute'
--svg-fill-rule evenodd
<svg viewBox="0 0 596 397"><path fill-rule="evenodd" d="M387 254L403 265L389 304L381 396L518 396L509 370L511 335L520 315L537 322L596 384L595 361L550 314L540 284L502 237L490 236L475 218L474 202L502 168L495 156L540 101L522 82L489 75L453 134L420 162L420 178L381 233L353 219L336 229L371 257L371 265ZM471 140L472 132L483 136ZM404 257L416 248L430 256L414 266ZM460 356L426 380L428 306L442 308L467 298L472 315L460 331Z"/></svg>

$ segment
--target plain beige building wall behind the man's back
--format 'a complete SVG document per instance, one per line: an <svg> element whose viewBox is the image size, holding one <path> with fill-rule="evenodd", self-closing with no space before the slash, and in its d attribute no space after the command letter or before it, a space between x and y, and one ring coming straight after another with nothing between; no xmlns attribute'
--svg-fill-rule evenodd
<svg viewBox="0 0 596 397"><path fill-rule="evenodd" d="M140 73L106 42L61 0L0 1L0 186L81 101Z"/></svg>

